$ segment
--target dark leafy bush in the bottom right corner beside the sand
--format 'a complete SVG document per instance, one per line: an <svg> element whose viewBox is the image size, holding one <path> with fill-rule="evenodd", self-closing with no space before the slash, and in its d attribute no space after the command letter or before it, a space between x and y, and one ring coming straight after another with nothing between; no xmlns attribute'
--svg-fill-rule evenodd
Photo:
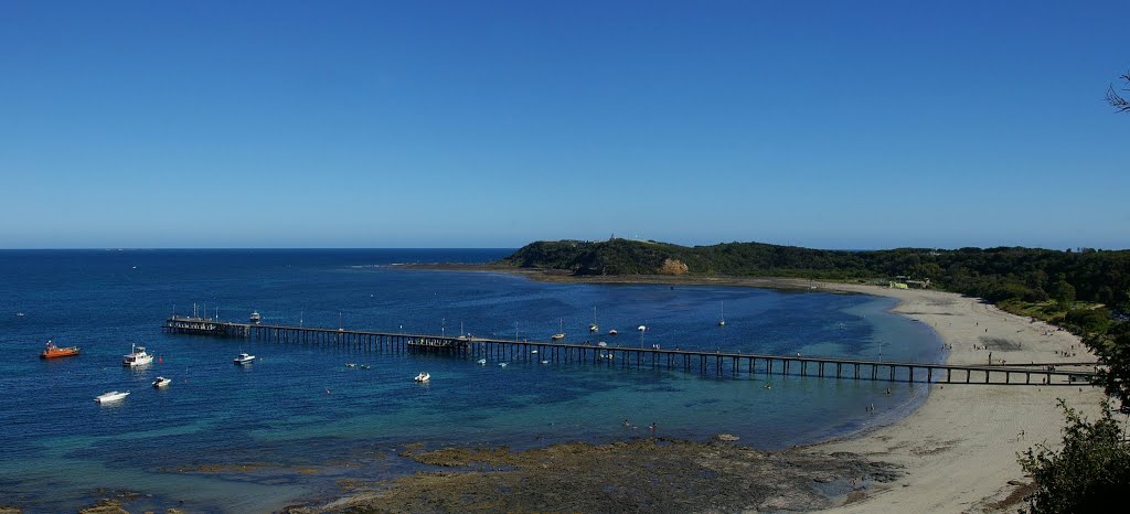
<svg viewBox="0 0 1130 514"><path fill-rule="evenodd" d="M1060 400L1067 418L1063 448L1044 444L1020 454L1020 467L1032 474L1036 490L1029 496L1033 513L1106 512L1111 502L1130 487L1130 445L1113 410L1103 404L1095 422L1084 419Z"/></svg>

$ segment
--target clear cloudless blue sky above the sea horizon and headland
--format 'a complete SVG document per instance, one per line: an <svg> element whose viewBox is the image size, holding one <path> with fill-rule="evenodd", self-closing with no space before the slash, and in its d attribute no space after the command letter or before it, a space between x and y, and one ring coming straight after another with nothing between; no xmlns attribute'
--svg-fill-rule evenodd
<svg viewBox="0 0 1130 514"><path fill-rule="evenodd" d="M0 247L1130 247L1125 2L0 2Z"/></svg>

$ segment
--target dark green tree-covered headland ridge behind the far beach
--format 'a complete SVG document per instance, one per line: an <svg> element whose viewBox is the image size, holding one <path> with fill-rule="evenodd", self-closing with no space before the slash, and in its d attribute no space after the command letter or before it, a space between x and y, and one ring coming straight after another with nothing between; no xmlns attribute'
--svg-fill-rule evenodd
<svg viewBox="0 0 1130 514"><path fill-rule="evenodd" d="M610 239L537 242L502 263L576 275L651 275L667 259L686 263L692 275L816 279L905 276L993 303L1054 298L1061 310L1076 300L1130 306L1130 251L997 247L850 252L763 243L688 247Z"/></svg>

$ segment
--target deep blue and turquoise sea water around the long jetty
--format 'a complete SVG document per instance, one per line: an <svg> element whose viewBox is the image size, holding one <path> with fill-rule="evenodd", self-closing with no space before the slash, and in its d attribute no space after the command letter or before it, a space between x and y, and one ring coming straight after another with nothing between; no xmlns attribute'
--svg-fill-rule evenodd
<svg viewBox="0 0 1130 514"><path fill-rule="evenodd" d="M406 270L507 250L0 251L0 504L75 509L98 488L154 495L131 509L259 512L337 490L340 478L411 471L406 444L530 447L718 433L780 448L905 416L921 385L702 376L171 336L171 313L263 323L938 361L927 326L887 298L755 288L541 284ZM716 325L724 302L725 326ZM597 310L601 333L590 336ZM18 316L17 313L23 313ZM641 337L635 328L646 324ZM47 339L82 355L43 361ZM160 357L128 369L131 343ZM232 364L238 351L259 356ZM346 363L371 369L349 368ZM411 377L428 371L432 383ZM166 390L155 376L174 380ZM772 389L765 385L771 384ZM132 394L118 404L93 398ZM869 412L866 407L876 406ZM638 428L625 428L628 418ZM240 465L240 468L233 468ZM220 467L200 471L200 467ZM209 468L210 469L210 468ZM183 502L183 503L182 503Z"/></svg>

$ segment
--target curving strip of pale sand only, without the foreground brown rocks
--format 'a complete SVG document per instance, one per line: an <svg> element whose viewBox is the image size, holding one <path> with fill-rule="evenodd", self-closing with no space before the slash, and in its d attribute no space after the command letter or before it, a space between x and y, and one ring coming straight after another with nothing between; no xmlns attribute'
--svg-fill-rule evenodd
<svg viewBox="0 0 1130 514"><path fill-rule="evenodd" d="M483 265L410 265L408 269L480 271L577 284L737 286L866 294L895 298L892 312L925 323L948 346L947 364L1068 363L1095 360L1078 337L1041 321L1003 312L980 298L932 289L892 289L867 284L794 278L573 277L539 270ZM1063 352L1074 355L1063 357ZM893 424L815 443L810 451L849 452L906 470L876 485L837 512L1002 512L1015 509L1031 479L1017 462L1037 443L1057 447L1063 426L1058 399L1093 417L1104 399L1089 385L930 384L925 401Z"/></svg>

